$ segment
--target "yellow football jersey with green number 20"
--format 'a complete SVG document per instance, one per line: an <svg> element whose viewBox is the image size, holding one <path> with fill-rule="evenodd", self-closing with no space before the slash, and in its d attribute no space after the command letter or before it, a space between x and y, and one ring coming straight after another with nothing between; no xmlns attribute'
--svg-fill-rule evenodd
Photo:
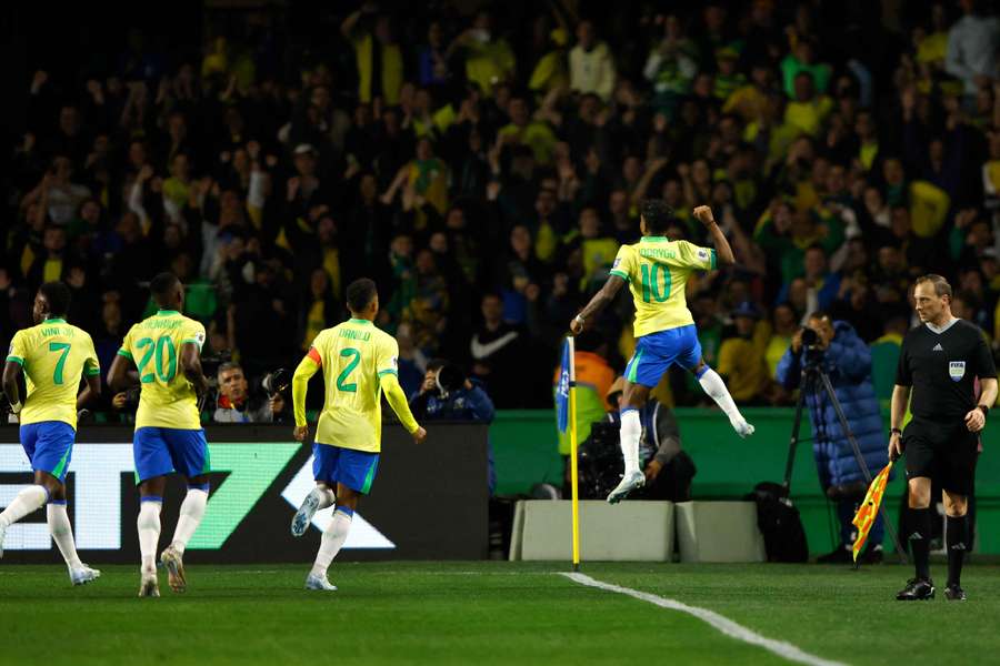
<svg viewBox="0 0 1000 666"><path fill-rule="evenodd" d="M181 347L204 344L204 326L172 310L161 310L131 329L118 354L139 369L142 392L136 428L201 430L194 386L180 366Z"/></svg>

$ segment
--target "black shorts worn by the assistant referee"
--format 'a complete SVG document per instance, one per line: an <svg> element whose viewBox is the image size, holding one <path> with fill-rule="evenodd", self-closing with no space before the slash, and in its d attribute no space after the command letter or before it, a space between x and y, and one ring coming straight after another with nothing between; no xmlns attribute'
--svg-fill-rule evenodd
<svg viewBox="0 0 1000 666"><path fill-rule="evenodd" d="M926 476L949 493L969 496L976 484L979 433L962 418L931 421L913 417L902 434L907 478Z"/></svg>

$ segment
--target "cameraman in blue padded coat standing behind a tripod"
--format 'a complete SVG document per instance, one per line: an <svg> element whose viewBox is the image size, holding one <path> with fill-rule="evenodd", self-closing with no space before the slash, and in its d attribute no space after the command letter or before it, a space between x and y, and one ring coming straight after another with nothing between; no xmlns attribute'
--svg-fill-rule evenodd
<svg viewBox="0 0 1000 666"><path fill-rule="evenodd" d="M813 312L806 327L792 337L791 347L784 352L776 373L778 382L787 390L806 392L812 422L812 453L820 485L827 497L837 503L841 545L817 562L849 563L854 542L851 521L864 497L867 483L848 434L842 431L833 403L823 391L819 377L811 381L811 385L799 386L803 366L827 373L866 464L870 471L881 470L889 458L882 415L871 382L871 352L849 323L834 322L824 312ZM863 562L882 561L882 518L879 516L861 555Z"/></svg>

